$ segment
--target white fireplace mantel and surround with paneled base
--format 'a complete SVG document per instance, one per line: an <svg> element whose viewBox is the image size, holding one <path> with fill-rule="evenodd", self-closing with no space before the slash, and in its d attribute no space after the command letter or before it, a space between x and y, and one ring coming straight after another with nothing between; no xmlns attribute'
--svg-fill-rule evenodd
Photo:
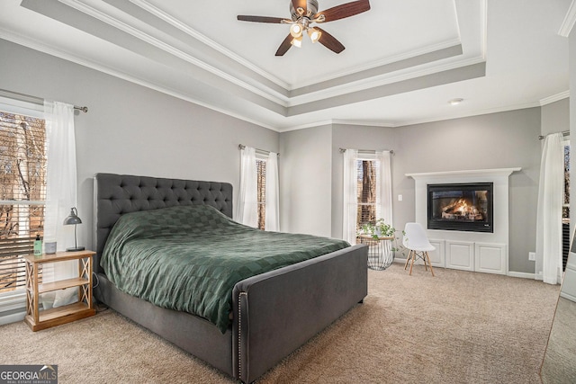
<svg viewBox="0 0 576 384"><path fill-rule="evenodd" d="M415 181L416 222L433 239L434 266L465 271L509 273L509 175L522 168L406 174ZM494 232L428 229L428 184L493 183ZM432 255L431 255L432 256Z"/></svg>

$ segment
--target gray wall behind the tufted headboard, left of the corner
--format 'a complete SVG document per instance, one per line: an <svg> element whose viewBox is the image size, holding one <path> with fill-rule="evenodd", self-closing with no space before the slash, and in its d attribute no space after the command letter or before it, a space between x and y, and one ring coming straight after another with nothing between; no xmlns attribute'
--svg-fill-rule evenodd
<svg viewBox="0 0 576 384"><path fill-rule="evenodd" d="M238 144L278 151L278 133L0 40L0 88L76 105L79 242L93 244L98 172L239 181ZM236 197L235 197L236 199ZM236 203L236 201L234 201Z"/></svg>

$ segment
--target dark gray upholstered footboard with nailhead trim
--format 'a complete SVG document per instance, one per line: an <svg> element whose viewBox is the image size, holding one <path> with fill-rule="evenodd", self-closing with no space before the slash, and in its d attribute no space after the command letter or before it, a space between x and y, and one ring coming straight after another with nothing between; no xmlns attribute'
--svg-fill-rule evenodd
<svg viewBox="0 0 576 384"><path fill-rule="evenodd" d="M239 281L232 292L232 362L249 383L367 295L366 246L352 246Z"/></svg>

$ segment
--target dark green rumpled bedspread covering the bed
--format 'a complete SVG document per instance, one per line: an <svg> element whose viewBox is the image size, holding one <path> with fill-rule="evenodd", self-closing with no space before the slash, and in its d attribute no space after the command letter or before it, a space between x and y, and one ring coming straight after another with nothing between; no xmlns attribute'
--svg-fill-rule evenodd
<svg viewBox="0 0 576 384"><path fill-rule="evenodd" d="M250 228L207 205L178 206L123 215L101 265L123 292L204 317L224 333L238 281L347 246Z"/></svg>

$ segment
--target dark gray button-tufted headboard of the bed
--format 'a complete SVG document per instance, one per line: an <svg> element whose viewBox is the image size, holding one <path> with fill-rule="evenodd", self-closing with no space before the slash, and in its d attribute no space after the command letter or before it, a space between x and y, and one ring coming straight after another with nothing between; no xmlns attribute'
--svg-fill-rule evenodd
<svg viewBox="0 0 576 384"><path fill-rule="evenodd" d="M232 185L127 174L94 176L94 272L100 271L108 234L124 213L208 204L232 217Z"/></svg>

